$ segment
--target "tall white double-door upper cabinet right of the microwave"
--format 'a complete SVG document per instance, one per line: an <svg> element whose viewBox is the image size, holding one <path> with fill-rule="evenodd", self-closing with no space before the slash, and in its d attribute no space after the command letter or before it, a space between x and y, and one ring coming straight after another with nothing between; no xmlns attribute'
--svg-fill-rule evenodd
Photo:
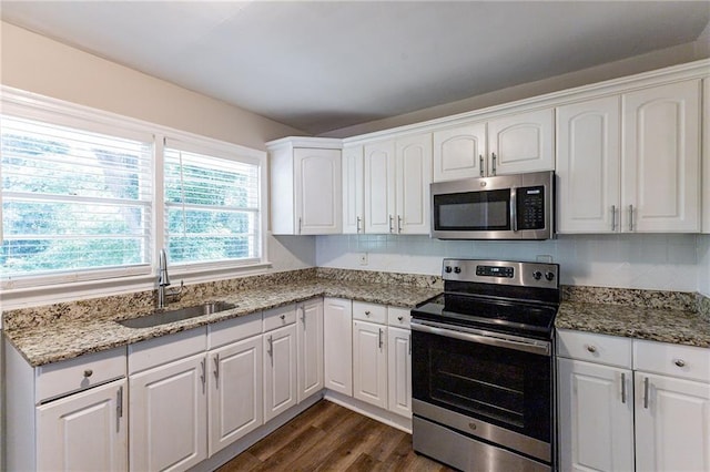
<svg viewBox="0 0 710 472"><path fill-rule="evenodd" d="M559 233L700 230L700 83L557 109Z"/></svg>

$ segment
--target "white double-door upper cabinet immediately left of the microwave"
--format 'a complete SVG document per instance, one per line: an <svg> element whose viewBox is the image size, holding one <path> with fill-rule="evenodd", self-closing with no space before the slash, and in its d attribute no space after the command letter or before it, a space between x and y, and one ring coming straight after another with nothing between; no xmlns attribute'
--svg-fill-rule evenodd
<svg viewBox="0 0 710 472"><path fill-rule="evenodd" d="M365 233L428 234L432 134L365 144L363 162Z"/></svg>

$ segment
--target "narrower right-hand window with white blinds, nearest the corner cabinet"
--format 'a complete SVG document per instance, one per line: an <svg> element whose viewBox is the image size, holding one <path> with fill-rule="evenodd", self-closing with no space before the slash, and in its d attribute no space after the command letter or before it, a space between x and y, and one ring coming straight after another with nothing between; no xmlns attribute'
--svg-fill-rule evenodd
<svg viewBox="0 0 710 472"><path fill-rule="evenodd" d="M186 147L171 140L164 152L165 247L171 264L258 261L258 162Z"/></svg>

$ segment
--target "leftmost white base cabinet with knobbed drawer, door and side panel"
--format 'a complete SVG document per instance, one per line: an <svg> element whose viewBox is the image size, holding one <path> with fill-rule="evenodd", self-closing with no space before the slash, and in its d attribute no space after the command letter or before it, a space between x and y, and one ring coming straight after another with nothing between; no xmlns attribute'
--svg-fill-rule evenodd
<svg viewBox="0 0 710 472"><path fill-rule="evenodd" d="M4 350L7 470L128 468L125 348L38 368Z"/></svg>

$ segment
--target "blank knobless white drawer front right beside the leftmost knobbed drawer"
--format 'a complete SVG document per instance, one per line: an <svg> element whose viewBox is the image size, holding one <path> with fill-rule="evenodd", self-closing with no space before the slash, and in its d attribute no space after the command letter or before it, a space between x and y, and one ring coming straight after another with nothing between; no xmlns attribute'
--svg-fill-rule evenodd
<svg viewBox="0 0 710 472"><path fill-rule="evenodd" d="M161 336L129 346L129 374L204 352L206 327Z"/></svg>

